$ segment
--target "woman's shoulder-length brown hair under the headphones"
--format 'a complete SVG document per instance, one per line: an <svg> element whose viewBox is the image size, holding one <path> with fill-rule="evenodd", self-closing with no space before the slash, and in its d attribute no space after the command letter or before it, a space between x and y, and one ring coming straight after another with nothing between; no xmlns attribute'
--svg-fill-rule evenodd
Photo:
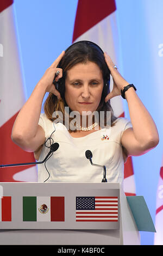
<svg viewBox="0 0 163 256"><path fill-rule="evenodd" d="M63 76L60 79L60 94L62 94L62 97L60 100L58 100L57 96L55 96L53 93L49 93L43 108L45 111L45 114L47 118L51 121L54 121L56 118L53 118L53 112L54 111L60 111L63 114L63 122L65 124L65 107L68 106L65 100L64 92L65 92L65 78L66 78L66 72L67 70L71 69L74 65L78 63L86 63L87 61L96 63L99 68L102 70L103 74L103 80L104 80L104 87L101 97L101 102L99 103L98 108L96 111L99 113L100 117L100 111L104 111L104 125L106 124L106 112L111 112L111 126L114 125L115 120L117 119L114 116L112 107L110 105L110 101L105 102L105 96L109 93L110 89L110 70L108 69L108 66L106 65L105 58L103 55L103 51L99 46L94 44L93 42L77 42L73 45L71 45L66 51L64 57L61 59L58 67L63 70ZM71 109L70 109L71 113ZM70 118L70 121L72 118ZM71 130L71 129L70 129Z"/></svg>

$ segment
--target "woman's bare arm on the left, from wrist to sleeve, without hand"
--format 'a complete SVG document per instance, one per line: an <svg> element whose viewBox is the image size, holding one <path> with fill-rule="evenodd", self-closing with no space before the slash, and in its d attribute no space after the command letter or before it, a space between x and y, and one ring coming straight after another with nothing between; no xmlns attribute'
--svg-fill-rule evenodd
<svg viewBox="0 0 163 256"><path fill-rule="evenodd" d="M45 142L45 132L38 125L45 89L38 83L17 115L12 127L12 141L25 151L35 151Z"/></svg>

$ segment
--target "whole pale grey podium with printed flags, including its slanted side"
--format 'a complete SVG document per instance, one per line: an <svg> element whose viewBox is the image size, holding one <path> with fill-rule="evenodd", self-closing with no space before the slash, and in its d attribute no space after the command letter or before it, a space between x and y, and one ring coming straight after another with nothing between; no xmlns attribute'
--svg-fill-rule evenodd
<svg viewBox="0 0 163 256"><path fill-rule="evenodd" d="M0 183L1 245L140 245L120 184Z"/></svg>

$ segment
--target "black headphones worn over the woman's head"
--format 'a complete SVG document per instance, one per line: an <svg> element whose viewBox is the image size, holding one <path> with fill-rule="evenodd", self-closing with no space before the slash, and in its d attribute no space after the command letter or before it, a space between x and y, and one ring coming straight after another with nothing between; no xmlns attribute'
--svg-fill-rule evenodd
<svg viewBox="0 0 163 256"><path fill-rule="evenodd" d="M104 54L103 50L97 44L95 44L95 42L86 41L86 40L74 42L74 44L70 45L65 50L65 52L67 52L72 46L74 46L76 44L81 44L81 43L84 43L84 44L86 43L86 44L89 44L93 47L96 47ZM58 64L57 68L60 68L60 63ZM56 77L56 75L55 75L55 77ZM64 75L64 71L63 71L62 77L59 79L58 82L55 81L55 77L54 77L54 80L53 80L53 84L54 84L55 88L59 91L60 96L63 98L64 94L65 94L65 75ZM106 97L106 95L108 95L109 92L110 92L110 70L108 68L108 77L104 80L103 96Z"/></svg>

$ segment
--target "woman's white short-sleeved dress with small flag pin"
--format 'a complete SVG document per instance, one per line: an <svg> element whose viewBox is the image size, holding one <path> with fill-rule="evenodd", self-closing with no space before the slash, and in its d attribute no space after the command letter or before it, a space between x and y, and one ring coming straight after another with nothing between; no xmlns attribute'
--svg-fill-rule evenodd
<svg viewBox="0 0 163 256"><path fill-rule="evenodd" d="M106 166L108 182L123 182L121 137L126 129L132 127L127 118L117 118L116 124L110 129L104 128L80 138L72 137L66 126L54 124L45 113L41 113L39 125L45 131L46 139L52 134L54 143L59 144L58 150L46 162L49 178L45 164L37 165L39 182L44 182L47 178L46 182L101 182L103 168L91 165L86 159L86 150L91 150L93 163ZM49 139L46 145L50 145ZM49 148L43 145L39 161L45 159L48 152Z"/></svg>

